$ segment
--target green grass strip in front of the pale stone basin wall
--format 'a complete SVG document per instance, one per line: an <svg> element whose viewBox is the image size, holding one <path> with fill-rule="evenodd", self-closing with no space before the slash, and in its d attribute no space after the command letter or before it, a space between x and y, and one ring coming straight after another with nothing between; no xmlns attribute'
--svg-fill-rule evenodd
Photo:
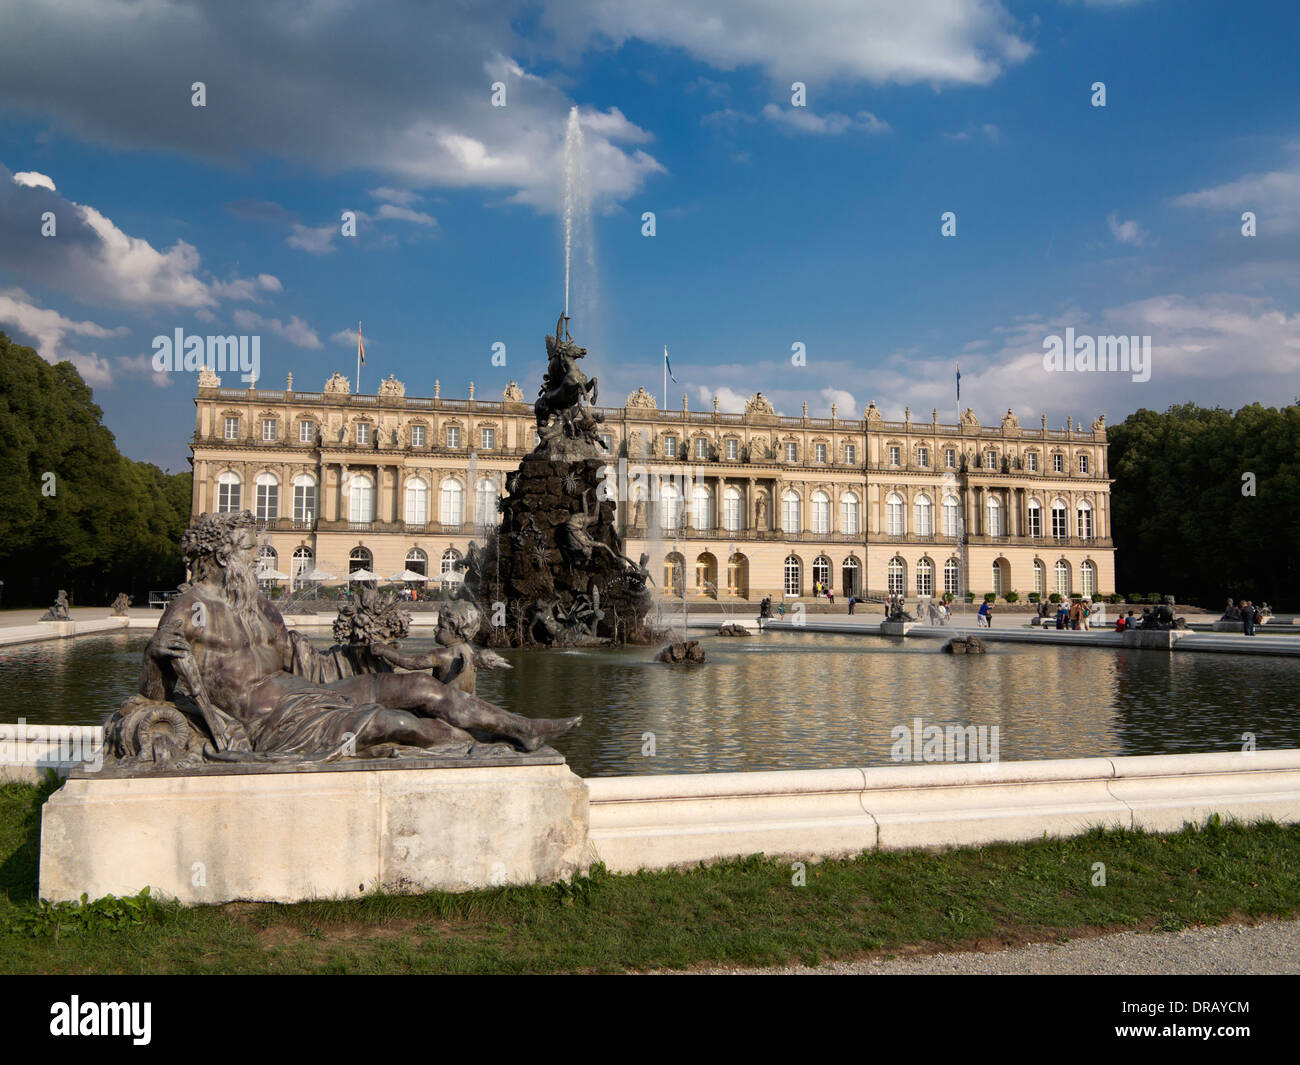
<svg viewBox="0 0 1300 1065"><path fill-rule="evenodd" d="M465 895L90 908L36 900L40 804L0 787L0 973L564 973L816 964L1300 914L1300 826L751 857ZM1105 886L1093 886L1095 863Z"/></svg>

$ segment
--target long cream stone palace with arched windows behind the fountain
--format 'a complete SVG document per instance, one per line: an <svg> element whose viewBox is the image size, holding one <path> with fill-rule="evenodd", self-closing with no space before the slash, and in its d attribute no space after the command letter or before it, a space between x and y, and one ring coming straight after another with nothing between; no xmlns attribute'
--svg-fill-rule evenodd
<svg viewBox="0 0 1300 1065"><path fill-rule="evenodd" d="M222 388L199 375L194 514L248 510L263 564L296 586L316 570L384 579L455 570L499 518L507 477L536 442L533 406L406 395L390 375L352 395ZM688 598L976 597L1114 592L1105 416L1087 429L660 411L644 389L599 408L627 553ZM612 495L611 495L612 498ZM685 585L685 586L682 586Z"/></svg>

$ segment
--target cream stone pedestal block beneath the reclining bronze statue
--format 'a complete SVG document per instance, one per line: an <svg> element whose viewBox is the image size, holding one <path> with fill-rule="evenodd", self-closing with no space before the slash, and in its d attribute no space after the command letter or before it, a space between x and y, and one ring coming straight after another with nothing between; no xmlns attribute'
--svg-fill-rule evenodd
<svg viewBox="0 0 1300 1065"><path fill-rule="evenodd" d="M568 766L101 776L42 810L40 897L151 893L295 902L569 879L588 865L588 789Z"/></svg>

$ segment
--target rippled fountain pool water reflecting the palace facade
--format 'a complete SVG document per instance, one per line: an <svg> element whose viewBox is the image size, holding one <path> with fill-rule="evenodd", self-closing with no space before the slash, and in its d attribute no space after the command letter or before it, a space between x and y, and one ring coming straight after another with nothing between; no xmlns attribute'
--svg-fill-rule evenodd
<svg viewBox="0 0 1300 1065"><path fill-rule="evenodd" d="M146 640L0 650L0 719L101 720L134 690ZM478 692L530 717L582 714L555 746L584 776L888 765L889 731L915 718L998 726L1005 762L1239 750L1243 732L1261 749L1300 746L1291 658L1023 644L972 657L933 640L785 632L703 642L703 666L645 648L504 650L515 668L480 672Z"/></svg>

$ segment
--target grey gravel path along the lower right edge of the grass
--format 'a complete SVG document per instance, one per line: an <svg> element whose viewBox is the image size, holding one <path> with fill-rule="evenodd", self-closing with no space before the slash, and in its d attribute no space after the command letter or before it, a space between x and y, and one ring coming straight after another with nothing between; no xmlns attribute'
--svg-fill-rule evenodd
<svg viewBox="0 0 1300 1065"><path fill-rule="evenodd" d="M833 961L809 967L697 969L745 975L1270 975L1300 974L1300 921L1217 925L1179 932L1117 932L1035 943L996 953L927 954L894 961Z"/></svg>

